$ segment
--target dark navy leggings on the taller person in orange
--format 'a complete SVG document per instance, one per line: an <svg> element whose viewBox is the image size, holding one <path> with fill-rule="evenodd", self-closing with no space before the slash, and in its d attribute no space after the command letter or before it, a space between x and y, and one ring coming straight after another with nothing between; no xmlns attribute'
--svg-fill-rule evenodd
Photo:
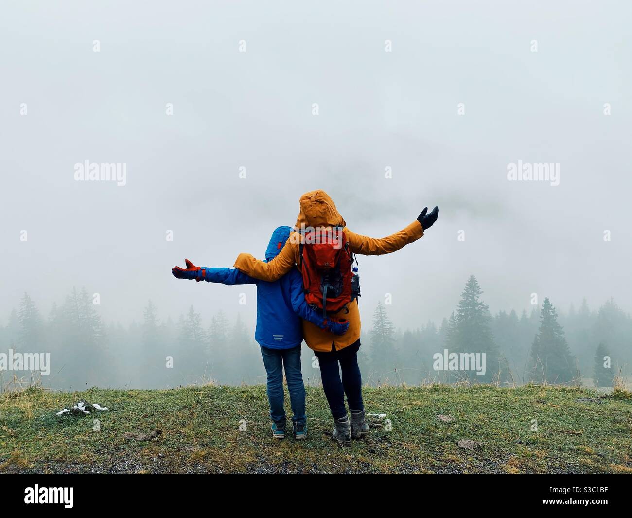
<svg viewBox="0 0 632 518"><path fill-rule="evenodd" d="M344 407L344 395L347 395L349 410L363 410L362 403L362 376L360 375L360 367L358 367L358 349L360 348L360 339L351 345L335 350L332 345L331 352L315 351L320 366L320 379L322 380L322 388L325 391L325 397L331 409L331 415L334 419L341 419L347 415ZM340 379L340 370L343 373L343 379Z"/></svg>

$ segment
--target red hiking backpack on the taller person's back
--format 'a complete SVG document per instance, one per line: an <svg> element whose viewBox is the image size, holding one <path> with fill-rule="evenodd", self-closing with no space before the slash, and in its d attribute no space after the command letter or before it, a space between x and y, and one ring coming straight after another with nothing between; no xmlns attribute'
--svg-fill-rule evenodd
<svg viewBox="0 0 632 518"><path fill-rule="evenodd" d="M299 245L305 300L322 308L322 315L345 307L355 295L352 288L353 254L343 227L322 228L301 233Z"/></svg>

